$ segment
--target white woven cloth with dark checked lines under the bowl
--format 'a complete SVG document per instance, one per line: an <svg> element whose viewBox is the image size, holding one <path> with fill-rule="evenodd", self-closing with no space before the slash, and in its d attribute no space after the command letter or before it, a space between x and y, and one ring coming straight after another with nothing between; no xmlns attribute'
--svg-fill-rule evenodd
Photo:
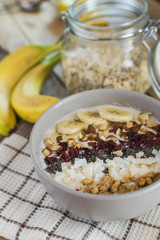
<svg viewBox="0 0 160 240"><path fill-rule="evenodd" d="M0 144L0 236L10 240L160 240L160 205L128 221L99 223L72 215L45 192L28 150L31 125Z"/></svg>

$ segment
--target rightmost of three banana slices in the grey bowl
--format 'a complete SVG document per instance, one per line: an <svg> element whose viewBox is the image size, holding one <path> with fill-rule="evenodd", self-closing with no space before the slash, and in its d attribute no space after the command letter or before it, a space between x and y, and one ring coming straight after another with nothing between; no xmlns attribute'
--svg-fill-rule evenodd
<svg viewBox="0 0 160 240"><path fill-rule="evenodd" d="M133 120L131 112L119 108L101 108L99 114L102 118L112 122L127 122Z"/></svg>

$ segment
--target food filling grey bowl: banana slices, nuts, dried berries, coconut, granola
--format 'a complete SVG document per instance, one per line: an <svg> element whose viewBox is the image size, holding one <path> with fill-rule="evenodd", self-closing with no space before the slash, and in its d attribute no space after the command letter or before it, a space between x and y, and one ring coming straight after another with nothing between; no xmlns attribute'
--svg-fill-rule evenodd
<svg viewBox="0 0 160 240"><path fill-rule="evenodd" d="M80 109L48 130L41 149L48 174L81 192L131 192L160 178L160 123L129 107Z"/></svg>

